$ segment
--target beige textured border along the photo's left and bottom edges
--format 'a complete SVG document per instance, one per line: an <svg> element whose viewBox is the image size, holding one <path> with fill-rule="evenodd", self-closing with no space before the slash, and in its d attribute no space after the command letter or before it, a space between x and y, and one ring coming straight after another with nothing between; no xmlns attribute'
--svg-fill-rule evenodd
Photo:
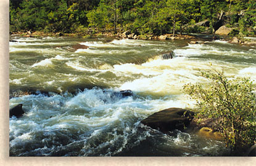
<svg viewBox="0 0 256 166"><path fill-rule="evenodd" d="M0 165L256 165L256 157L9 157L9 0L0 0L0 22Z"/></svg>

